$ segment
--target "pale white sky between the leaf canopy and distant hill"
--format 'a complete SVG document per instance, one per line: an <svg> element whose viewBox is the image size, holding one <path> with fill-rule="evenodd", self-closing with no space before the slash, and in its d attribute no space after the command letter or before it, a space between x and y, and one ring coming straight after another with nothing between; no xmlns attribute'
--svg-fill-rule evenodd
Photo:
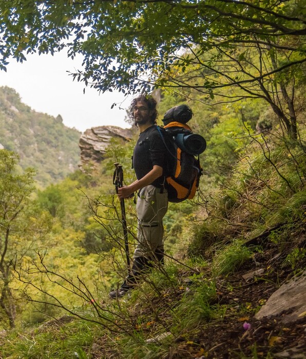
<svg viewBox="0 0 306 359"><path fill-rule="evenodd" d="M80 57L72 60L64 51L54 56L26 57L27 61L22 64L10 59L7 72L0 70L0 86L15 89L22 102L33 110L54 117L60 114L64 125L81 132L97 126L130 127L124 118L132 97L126 98L114 91L99 94L91 88L86 88L84 94L84 83L72 81L66 71L81 69ZM118 105L111 109L113 103Z"/></svg>

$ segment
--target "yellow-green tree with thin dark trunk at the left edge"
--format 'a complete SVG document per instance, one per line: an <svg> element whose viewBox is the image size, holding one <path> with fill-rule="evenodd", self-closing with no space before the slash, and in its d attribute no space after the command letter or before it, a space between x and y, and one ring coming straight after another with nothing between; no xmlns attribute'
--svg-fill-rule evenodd
<svg viewBox="0 0 306 359"><path fill-rule="evenodd" d="M31 254L50 228L48 215L30 201L34 170L16 173L17 161L14 152L0 150L0 307L10 328L16 316L13 268Z"/></svg>

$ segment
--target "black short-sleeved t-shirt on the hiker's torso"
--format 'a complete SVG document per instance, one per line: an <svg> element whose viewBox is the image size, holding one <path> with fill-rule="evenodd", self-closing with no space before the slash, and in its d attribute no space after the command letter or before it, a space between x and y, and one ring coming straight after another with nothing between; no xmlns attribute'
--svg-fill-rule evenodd
<svg viewBox="0 0 306 359"><path fill-rule="evenodd" d="M156 125L141 132L133 153L133 168L137 179L144 177L154 165L158 165L165 171L166 147ZM151 184L161 188L165 177L162 175Z"/></svg>

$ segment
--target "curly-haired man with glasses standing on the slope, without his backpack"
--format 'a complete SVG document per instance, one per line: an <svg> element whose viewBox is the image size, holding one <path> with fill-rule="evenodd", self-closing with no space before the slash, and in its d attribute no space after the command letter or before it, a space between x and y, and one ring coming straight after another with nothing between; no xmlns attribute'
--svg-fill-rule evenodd
<svg viewBox="0 0 306 359"><path fill-rule="evenodd" d="M154 262L163 263L163 217L168 208L165 189L166 148L158 132L156 101L152 97L133 99L129 117L139 127L139 138L133 153L133 168L137 180L119 188L118 197L125 198L133 192L137 196L138 233L131 273L121 288L109 293L111 298L121 297L135 286L142 271Z"/></svg>

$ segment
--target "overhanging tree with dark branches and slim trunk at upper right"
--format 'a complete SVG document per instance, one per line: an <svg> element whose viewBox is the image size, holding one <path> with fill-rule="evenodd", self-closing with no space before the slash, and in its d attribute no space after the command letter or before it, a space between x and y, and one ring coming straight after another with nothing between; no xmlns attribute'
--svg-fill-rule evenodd
<svg viewBox="0 0 306 359"><path fill-rule="evenodd" d="M192 88L216 99L231 87L231 101L264 98L297 137L302 0L6 0L0 10L2 68L10 56L23 61L28 52L67 47L72 58L84 56L84 68L72 75L86 86Z"/></svg>

